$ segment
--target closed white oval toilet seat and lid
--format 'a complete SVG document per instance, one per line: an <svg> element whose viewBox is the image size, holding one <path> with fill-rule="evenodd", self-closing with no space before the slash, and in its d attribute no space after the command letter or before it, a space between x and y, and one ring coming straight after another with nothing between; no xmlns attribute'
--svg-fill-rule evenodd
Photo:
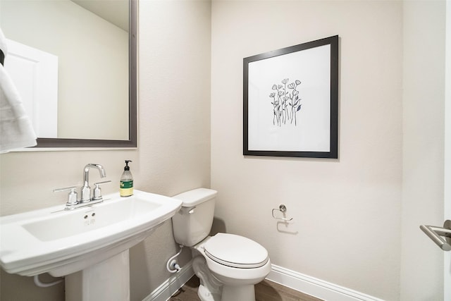
<svg viewBox="0 0 451 301"><path fill-rule="evenodd" d="M254 269L268 262L268 251L258 242L240 235L217 233L204 245L207 257L219 264Z"/></svg>

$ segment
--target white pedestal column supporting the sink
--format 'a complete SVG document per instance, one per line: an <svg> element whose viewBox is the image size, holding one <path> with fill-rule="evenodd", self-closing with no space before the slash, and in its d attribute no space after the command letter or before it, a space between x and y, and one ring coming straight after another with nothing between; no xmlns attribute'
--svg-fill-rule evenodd
<svg viewBox="0 0 451 301"><path fill-rule="evenodd" d="M128 250L66 276L66 301L130 300Z"/></svg>

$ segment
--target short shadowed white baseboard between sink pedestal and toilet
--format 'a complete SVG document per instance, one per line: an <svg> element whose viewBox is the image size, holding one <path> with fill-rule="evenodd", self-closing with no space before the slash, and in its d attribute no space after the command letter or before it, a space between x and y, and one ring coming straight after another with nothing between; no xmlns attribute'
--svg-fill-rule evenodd
<svg viewBox="0 0 451 301"><path fill-rule="evenodd" d="M173 274L173 276L169 277L168 280L161 283L158 288L156 288L142 301L166 301L188 280L190 280L192 276L194 276L194 271L192 270L192 261L190 261L183 266L181 271Z"/></svg>

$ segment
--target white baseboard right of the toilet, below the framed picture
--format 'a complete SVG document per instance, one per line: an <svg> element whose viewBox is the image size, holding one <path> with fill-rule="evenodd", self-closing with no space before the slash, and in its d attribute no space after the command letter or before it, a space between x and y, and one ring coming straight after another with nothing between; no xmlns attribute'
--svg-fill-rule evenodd
<svg viewBox="0 0 451 301"><path fill-rule="evenodd" d="M326 301L383 301L356 290L300 274L275 264L271 266L271 272L266 279Z"/></svg>

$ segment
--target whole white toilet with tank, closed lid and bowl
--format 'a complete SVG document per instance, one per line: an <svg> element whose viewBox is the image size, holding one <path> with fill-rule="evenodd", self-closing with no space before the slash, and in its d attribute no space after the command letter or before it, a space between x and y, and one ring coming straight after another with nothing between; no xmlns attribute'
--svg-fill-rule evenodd
<svg viewBox="0 0 451 301"><path fill-rule="evenodd" d="M268 251L240 235L209 236L216 194L198 188L174 196L183 202L172 218L175 241L191 247L202 301L255 301L254 285L271 271Z"/></svg>

